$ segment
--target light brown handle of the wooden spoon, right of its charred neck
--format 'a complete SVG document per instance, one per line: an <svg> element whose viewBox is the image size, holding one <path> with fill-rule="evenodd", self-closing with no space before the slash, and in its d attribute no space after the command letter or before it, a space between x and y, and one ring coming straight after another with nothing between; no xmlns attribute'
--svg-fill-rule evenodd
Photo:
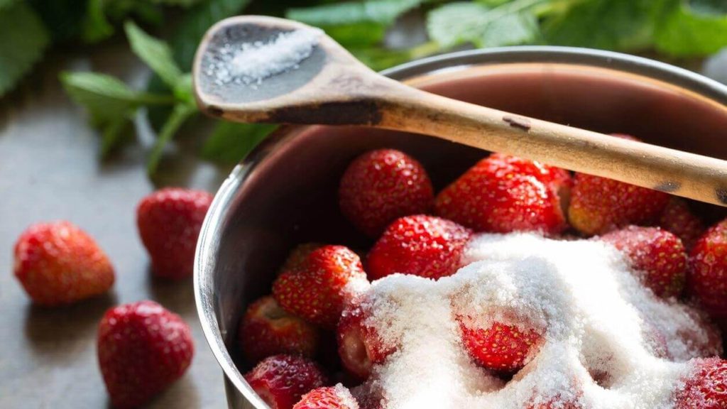
<svg viewBox="0 0 727 409"><path fill-rule="evenodd" d="M434 135L576 172L727 207L727 161L545 122L388 82L379 95L392 130Z"/></svg>

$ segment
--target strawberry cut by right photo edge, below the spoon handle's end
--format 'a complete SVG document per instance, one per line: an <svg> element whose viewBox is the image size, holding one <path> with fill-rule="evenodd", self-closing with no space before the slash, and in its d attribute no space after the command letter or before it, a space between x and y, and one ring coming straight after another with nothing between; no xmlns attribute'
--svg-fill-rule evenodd
<svg viewBox="0 0 727 409"><path fill-rule="evenodd" d="M727 317L727 219L712 226L689 257L687 293L714 317Z"/></svg>

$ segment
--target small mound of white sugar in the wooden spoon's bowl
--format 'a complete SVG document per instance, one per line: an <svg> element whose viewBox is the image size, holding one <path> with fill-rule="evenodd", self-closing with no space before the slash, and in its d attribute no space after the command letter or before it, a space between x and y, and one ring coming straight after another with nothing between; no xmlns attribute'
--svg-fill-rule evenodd
<svg viewBox="0 0 727 409"><path fill-rule="evenodd" d="M225 44L213 53L206 74L220 85L260 84L270 76L297 69L313 54L322 34L318 28L301 28L278 33L268 41Z"/></svg>

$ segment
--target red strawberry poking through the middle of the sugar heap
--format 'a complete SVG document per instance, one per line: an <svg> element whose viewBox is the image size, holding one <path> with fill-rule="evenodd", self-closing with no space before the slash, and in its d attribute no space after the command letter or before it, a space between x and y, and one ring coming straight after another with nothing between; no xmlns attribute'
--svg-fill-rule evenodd
<svg viewBox="0 0 727 409"><path fill-rule="evenodd" d="M471 317L459 315L457 322L467 353L478 365L494 372L515 373L540 349L542 335L533 328L522 330L503 322L478 327Z"/></svg>

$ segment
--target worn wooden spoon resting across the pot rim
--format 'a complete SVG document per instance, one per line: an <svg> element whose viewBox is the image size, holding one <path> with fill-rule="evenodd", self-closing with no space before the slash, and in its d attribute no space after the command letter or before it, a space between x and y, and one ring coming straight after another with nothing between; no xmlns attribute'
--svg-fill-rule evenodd
<svg viewBox="0 0 727 409"><path fill-rule="evenodd" d="M316 29L262 16L232 17L210 28L193 68L201 109L236 122L364 125L433 135L727 206L727 161L417 90L371 71L322 33L310 56L260 82L226 81L215 74L223 65L220 55L230 49L295 30Z"/></svg>

